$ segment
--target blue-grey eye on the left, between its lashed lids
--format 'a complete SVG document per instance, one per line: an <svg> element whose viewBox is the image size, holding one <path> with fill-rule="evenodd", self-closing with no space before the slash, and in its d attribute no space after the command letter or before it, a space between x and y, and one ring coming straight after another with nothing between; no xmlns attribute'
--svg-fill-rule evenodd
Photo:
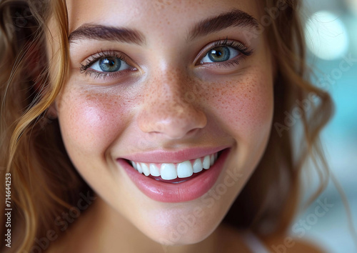
<svg viewBox="0 0 357 253"><path fill-rule="evenodd" d="M131 69L131 66L116 56L108 56L95 61L89 68L99 72L116 72Z"/></svg>

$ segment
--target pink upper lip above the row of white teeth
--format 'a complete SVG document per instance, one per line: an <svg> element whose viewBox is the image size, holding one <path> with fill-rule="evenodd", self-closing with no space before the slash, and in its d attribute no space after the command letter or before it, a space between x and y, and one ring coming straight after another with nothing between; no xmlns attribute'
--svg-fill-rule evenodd
<svg viewBox="0 0 357 253"><path fill-rule="evenodd" d="M128 154L120 157L134 162L144 163L179 163L191 159L205 157L208 154L214 154L220 152L229 146L220 147L191 147L187 149L178 149L174 151L157 149L148 152L139 152L135 154Z"/></svg>

